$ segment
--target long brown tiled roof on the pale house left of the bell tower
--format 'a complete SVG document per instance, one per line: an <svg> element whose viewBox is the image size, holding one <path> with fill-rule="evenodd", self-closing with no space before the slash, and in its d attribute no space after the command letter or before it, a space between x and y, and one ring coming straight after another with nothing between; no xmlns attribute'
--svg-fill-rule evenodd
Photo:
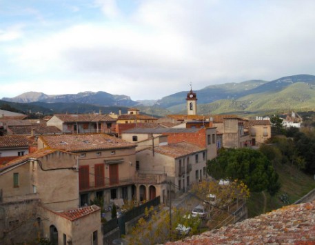
<svg viewBox="0 0 315 245"><path fill-rule="evenodd" d="M90 122L90 121L116 121L116 119L109 115L96 115L96 114L56 114L61 121L65 122Z"/></svg>

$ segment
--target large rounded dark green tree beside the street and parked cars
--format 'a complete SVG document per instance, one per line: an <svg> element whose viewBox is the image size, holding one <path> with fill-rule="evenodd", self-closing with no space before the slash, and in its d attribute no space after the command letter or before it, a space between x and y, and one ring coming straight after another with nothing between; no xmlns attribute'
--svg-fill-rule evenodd
<svg viewBox="0 0 315 245"><path fill-rule="evenodd" d="M254 192L266 190L268 186L280 188L278 174L270 160L260 151L250 148L221 152L216 159L208 161L207 171L215 179L239 179ZM273 189L272 193L277 191Z"/></svg>

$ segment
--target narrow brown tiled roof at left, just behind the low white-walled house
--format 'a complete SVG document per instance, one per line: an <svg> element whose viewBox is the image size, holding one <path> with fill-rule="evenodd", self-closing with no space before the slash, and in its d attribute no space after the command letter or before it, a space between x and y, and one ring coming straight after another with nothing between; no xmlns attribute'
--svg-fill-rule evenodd
<svg viewBox="0 0 315 245"><path fill-rule="evenodd" d="M10 126L8 131L12 135L31 135L34 130L34 135L46 134L61 134L61 130L55 126Z"/></svg>

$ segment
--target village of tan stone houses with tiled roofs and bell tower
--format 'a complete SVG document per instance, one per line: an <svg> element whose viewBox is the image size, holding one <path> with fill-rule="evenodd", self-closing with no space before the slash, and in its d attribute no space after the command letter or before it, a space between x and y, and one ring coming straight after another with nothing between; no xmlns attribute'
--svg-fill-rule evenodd
<svg viewBox="0 0 315 245"><path fill-rule="evenodd" d="M106 213L113 204L119 209L126 202L154 200L169 206L179 193L210 177L206 163L220 148L254 148L271 137L268 119L198 115L192 90L186 101L187 115L164 118L136 108L125 115L41 120L3 115L1 239L15 244L39 236L52 244L89 244L91 239L103 244L112 230L104 231L101 219L110 219ZM93 204L97 199L101 206Z"/></svg>

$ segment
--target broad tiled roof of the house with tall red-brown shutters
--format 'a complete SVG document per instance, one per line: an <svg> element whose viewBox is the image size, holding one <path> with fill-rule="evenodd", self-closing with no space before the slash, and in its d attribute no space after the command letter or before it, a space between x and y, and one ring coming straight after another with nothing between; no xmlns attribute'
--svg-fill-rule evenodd
<svg viewBox="0 0 315 245"><path fill-rule="evenodd" d="M105 134L42 135L46 146L54 149L77 152L135 147L135 144Z"/></svg>

